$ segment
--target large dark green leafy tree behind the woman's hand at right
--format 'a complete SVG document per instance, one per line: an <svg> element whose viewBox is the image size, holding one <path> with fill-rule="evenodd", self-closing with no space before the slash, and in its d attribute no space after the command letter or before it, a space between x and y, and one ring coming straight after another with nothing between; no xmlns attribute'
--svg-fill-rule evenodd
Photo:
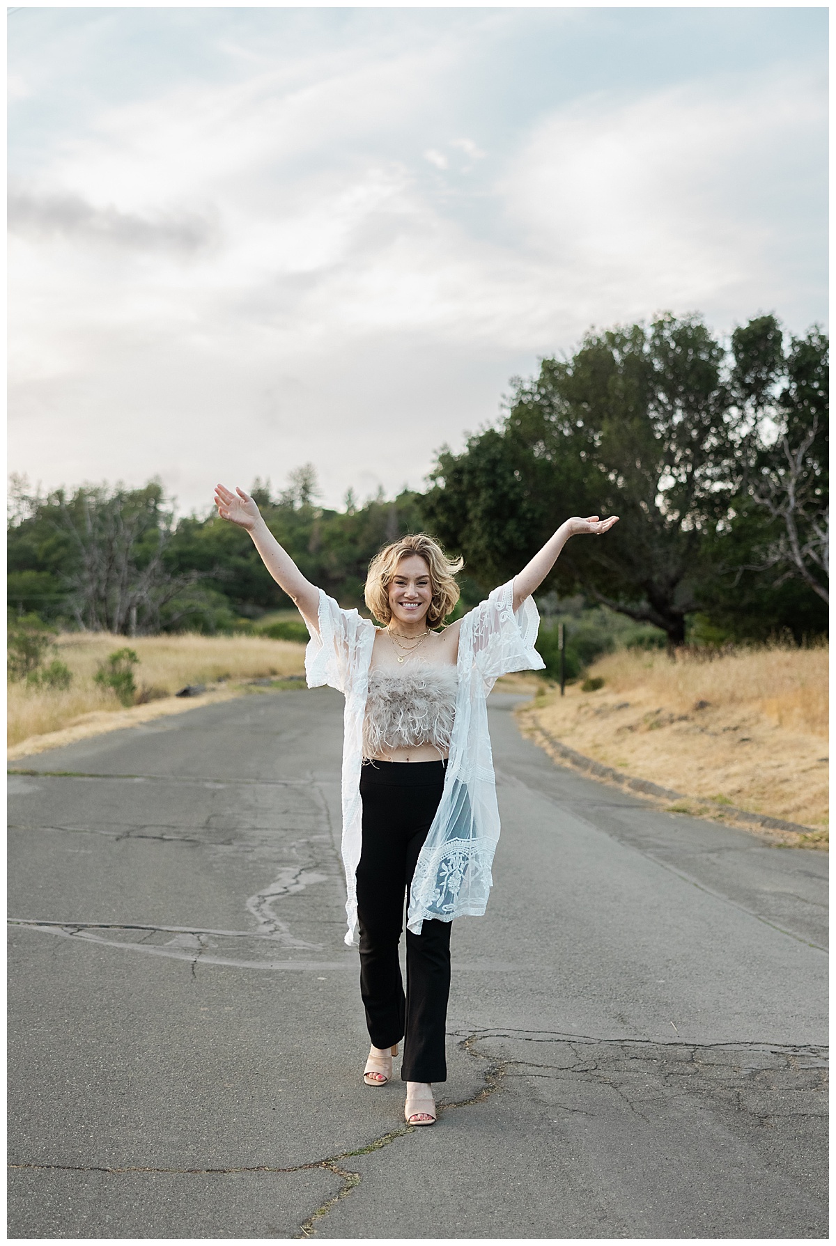
<svg viewBox="0 0 836 1246"><path fill-rule="evenodd" d="M427 523L487 587L567 515L619 515L606 540L567 546L549 579L682 644L688 616L716 597L715 537L746 496L781 376L792 405L795 355L781 341L771 316L730 349L695 315L587 334L569 359L515 383L498 429L439 455Z"/></svg>

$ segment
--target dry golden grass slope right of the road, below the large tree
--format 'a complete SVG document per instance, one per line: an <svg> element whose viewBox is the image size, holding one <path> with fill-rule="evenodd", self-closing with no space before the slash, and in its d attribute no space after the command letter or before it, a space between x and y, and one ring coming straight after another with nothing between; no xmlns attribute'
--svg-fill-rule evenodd
<svg viewBox="0 0 836 1246"><path fill-rule="evenodd" d="M713 660L620 650L522 713L554 739L691 797L816 830L827 825L827 649L741 649Z"/></svg>

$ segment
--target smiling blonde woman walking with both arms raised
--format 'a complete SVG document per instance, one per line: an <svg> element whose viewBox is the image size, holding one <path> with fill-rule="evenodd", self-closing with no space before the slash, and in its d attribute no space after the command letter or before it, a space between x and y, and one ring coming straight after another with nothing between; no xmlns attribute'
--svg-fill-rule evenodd
<svg viewBox="0 0 836 1246"><path fill-rule="evenodd" d="M486 698L498 675L542 669L531 594L571 536L601 536L618 517L567 520L518 576L434 630L458 601L462 562L447 559L431 537L402 537L371 561L365 601L382 624L375 627L305 579L243 490L218 485L216 505L249 532L308 624L308 684L345 694L345 942L359 927L371 1038L364 1080L390 1080L404 1038L405 1116L431 1125L432 1083L447 1077L451 922L485 912L500 835ZM397 959L405 891L406 994Z"/></svg>

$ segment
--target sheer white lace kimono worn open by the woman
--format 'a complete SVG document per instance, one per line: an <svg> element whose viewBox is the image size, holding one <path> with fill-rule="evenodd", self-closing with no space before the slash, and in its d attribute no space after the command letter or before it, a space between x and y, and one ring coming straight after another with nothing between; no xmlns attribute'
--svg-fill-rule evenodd
<svg viewBox="0 0 836 1246"><path fill-rule="evenodd" d="M500 837L493 759L487 731L486 698L500 675L541 670L534 649L539 616L528 597L513 612L513 581L495 588L461 621L458 689L444 792L419 855L406 925L420 934L430 918L478 917L493 883L491 865ZM310 630L310 628L309 628ZM343 865L348 887L346 943L355 942L356 870L363 846L360 768L363 724L375 627L356 611L343 611L319 592L319 635L310 633L305 652L309 688L330 684L345 695L343 740ZM407 763L404 763L405 765Z"/></svg>

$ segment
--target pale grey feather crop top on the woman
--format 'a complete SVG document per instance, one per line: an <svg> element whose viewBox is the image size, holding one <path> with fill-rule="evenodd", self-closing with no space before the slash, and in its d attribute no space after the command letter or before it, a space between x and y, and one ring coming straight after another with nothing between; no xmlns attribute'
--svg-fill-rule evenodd
<svg viewBox="0 0 836 1246"><path fill-rule="evenodd" d="M407 670L374 668L363 724L363 756L432 744L450 751L458 673L416 662Z"/></svg>

